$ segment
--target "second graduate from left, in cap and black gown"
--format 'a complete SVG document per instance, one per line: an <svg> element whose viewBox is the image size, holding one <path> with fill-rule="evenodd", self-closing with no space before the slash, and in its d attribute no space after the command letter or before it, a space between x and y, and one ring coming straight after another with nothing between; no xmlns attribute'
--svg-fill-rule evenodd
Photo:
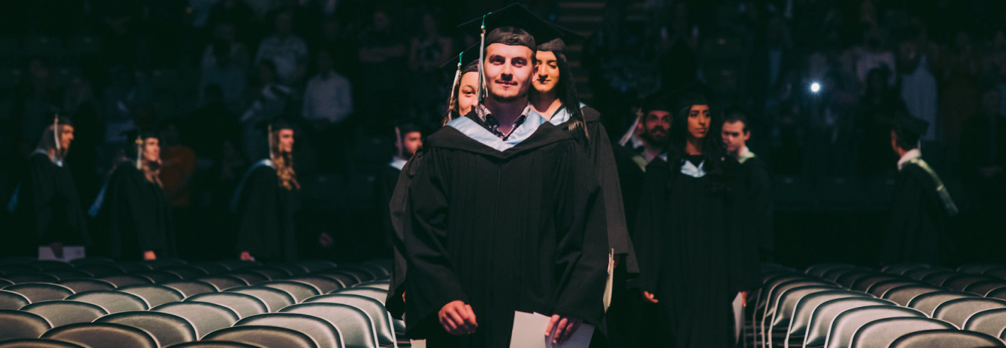
<svg viewBox="0 0 1006 348"><path fill-rule="evenodd" d="M127 147L90 211L105 225L103 251L117 259L174 256L171 205L159 177L160 139L152 131L132 131L127 137L135 144Z"/></svg>

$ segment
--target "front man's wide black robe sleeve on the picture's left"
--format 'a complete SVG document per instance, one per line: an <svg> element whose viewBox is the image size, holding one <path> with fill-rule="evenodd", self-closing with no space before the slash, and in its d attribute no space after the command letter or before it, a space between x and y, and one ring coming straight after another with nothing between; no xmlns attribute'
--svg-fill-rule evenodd
<svg viewBox="0 0 1006 348"><path fill-rule="evenodd" d="M408 332L413 332L421 323L429 323L430 317L448 303L470 302L446 246L448 178L439 166L438 151L428 151L424 165L408 186L406 208L411 224L403 230L409 280L405 282Z"/></svg>

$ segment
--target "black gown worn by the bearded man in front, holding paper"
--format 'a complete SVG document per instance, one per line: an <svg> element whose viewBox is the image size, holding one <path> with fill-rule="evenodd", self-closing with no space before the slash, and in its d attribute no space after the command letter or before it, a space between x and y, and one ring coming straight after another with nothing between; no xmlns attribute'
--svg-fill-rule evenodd
<svg viewBox="0 0 1006 348"><path fill-rule="evenodd" d="M424 145L407 194L408 336L431 347L508 347L515 311L598 324L604 203L572 137L545 123L501 152L445 127ZM458 300L476 314L472 335L449 335L438 322Z"/></svg>

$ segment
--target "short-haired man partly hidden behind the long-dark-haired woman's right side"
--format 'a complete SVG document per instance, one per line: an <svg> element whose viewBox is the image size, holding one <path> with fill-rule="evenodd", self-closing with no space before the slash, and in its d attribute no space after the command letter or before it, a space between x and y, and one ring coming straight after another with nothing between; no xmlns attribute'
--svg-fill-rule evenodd
<svg viewBox="0 0 1006 348"><path fill-rule="evenodd" d="M726 153L740 164L737 170L738 189L742 191L741 196L748 200L746 205L749 209L741 212L741 221L758 240L761 260L772 262L775 259L776 239L772 224L774 210L769 165L747 149L747 140L751 135L746 113L734 107L727 109L724 115L720 135Z"/></svg>

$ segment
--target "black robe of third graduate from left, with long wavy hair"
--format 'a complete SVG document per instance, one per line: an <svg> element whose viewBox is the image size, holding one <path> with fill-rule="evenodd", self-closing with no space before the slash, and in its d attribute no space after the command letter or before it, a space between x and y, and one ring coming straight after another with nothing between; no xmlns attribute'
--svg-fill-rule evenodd
<svg viewBox="0 0 1006 348"><path fill-rule="evenodd" d="M276 169L265 163L248 169L234 193L237 251L248 251L260 260L296 259L296 191L281 186Z"/></svg>

